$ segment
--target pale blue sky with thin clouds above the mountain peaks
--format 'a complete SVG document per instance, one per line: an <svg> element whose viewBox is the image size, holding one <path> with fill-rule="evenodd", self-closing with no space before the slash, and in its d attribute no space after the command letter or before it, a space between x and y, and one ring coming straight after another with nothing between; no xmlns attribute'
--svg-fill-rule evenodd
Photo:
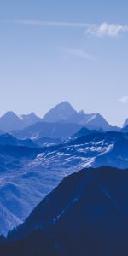
<svg viewBox="0 0 128 256"><path fill-rule="evenodd" d="M0 0L0 115L68 101L128 118L126 0Z"/></svg>

